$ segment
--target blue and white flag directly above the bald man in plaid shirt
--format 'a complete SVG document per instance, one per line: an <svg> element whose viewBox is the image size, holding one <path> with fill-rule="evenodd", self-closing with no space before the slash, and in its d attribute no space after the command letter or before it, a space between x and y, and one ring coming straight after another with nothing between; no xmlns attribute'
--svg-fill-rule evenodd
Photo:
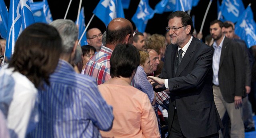
<svg viewBox="0 0 256 138"><path fill-rule="evenodd" d="M100 0L93 13L104 22L106 26L114 18L124 18L121 0Z"/></svg>

